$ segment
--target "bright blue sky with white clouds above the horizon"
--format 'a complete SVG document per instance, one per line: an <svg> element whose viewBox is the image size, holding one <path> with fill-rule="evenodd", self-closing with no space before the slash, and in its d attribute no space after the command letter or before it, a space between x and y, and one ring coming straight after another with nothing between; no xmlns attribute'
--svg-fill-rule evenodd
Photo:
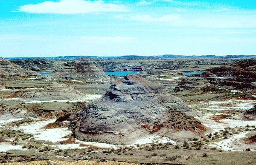
<svg viewBox="0 0 256 165"><path fill-rule="evenodd" d="M255 0L0 0L0 57L256 54Z"/></svg>

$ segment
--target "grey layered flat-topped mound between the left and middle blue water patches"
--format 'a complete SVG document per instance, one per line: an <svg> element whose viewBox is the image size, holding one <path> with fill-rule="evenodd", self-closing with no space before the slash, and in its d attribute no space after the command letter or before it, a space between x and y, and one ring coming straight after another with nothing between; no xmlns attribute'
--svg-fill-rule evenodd
<svg viewBox="0 0 256 165"><path fill-rule="evenodd" d="M61 68L54 71L49 77L64 80L90 80L90 82L109 79L99 64L90 58L65 62L61 65Z"/></svg>

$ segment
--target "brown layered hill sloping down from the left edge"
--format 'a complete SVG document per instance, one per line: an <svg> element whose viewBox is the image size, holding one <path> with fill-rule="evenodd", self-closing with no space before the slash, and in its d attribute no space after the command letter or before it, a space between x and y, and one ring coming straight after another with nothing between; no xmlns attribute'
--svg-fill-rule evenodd
<svg viewBox="0 0 256 165"><path fill-rule="evenodd" d="M29 78L40 76L35 71L25 70L0 57L0 78Z"/></svg>

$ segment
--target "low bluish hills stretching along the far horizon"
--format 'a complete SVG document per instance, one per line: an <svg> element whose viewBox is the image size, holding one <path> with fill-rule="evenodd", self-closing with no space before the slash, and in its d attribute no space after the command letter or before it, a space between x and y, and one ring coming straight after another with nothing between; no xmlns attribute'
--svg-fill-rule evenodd
<svg viewBox="0 0 256 165"><path fill-rule="evenodd" d="M58 57L44 57L49 60L77 60L82 57L90 57L101 60L114 60L114 59L122 59L122 60L152 60L152 59L180 59L180 58L218 58L218 59L234 59L234 58L250 58L255 57L256 55L226 55L226 56L216 56L216 55L192 55L192 56L183 56L183 55L175 55L175 54L165 54L160 56L139 56L139 55L126 55L126 56L118 56L118 57L100 57L100 56L58 56ZM28 59L28 58L39 58L39 57L7 57L7 60L19 60L19 59Z"/></svg>

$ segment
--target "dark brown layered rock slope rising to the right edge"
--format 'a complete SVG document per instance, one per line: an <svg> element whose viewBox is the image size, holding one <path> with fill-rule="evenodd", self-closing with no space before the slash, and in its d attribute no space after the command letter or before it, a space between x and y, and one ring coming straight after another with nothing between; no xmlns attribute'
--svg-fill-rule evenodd
<svg viewBox="0 0 256 165"><path fill-rule="evenodd" d="M218 88L231 90L249 90L256 88L256 60L241 60L233 65L207 69L198 76L186 77L176 87L175 91L202 88L205 85L215 85Z"/></svg>

